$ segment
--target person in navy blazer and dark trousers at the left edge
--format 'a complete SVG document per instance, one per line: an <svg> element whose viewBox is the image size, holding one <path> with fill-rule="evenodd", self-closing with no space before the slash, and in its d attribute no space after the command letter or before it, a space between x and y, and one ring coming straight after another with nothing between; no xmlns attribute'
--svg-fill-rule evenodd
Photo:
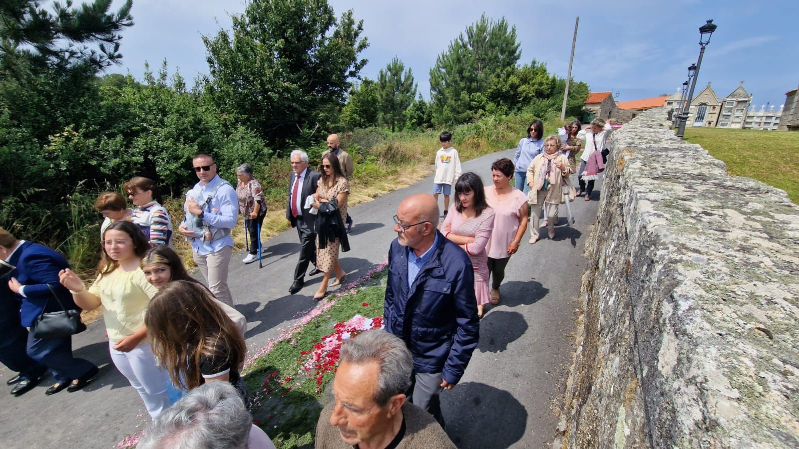
<svg viewBox="0 0 799 449"><path fill-rule="evenodd" d="M52 395L65 388L77 391L85 387L98 370L90 362L72 356L72 336L47 339L34 337L36 318L42 311L80 310L69 290L58 282L58 272L70 268L70 264L58 252L42 244L17 240L3 228L0 228L0 258L16 266L7 288L16 294L21 303L18 314L22 326L30 328L27 355L38 364L50 368L56 380L45 394ZM38 380L28 379L27 383L20 381L11 393L21 395L35 387L36 383Z"/></svg>

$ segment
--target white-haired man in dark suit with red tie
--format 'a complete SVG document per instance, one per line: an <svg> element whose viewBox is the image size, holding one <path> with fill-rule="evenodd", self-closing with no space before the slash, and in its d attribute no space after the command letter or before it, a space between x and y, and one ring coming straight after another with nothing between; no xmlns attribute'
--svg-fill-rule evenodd
<svg viewBox="0 0 799 449"><path fill-rule="evenodd" d="M305 207L305 199L316 193L320 174L308 169L308 154L300 149L292 151L292 177L288 183L288 204L286 205L286 220L290 221L292 228L297 228L300 236L300 260L294 269L294 282L288 288L292 295L299 292L305 283L305 271L308 263L316 265L316 232L313 225L316 215L310 213L310 208ZM314 266L310 275L320 271Z"/></svg>

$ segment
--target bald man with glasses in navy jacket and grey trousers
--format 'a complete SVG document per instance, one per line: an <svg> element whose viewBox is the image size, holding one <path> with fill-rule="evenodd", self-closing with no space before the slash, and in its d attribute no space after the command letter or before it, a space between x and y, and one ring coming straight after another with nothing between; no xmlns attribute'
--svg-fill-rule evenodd
<svg viewBox="0 0 799 449"><path fill-rule="evenodd" d="M407 197L394 221L384 324L413 355L411 402L443 426L439 394L460 381L479 340L475 274L466 252L436 230L430 195Z"/></svg>

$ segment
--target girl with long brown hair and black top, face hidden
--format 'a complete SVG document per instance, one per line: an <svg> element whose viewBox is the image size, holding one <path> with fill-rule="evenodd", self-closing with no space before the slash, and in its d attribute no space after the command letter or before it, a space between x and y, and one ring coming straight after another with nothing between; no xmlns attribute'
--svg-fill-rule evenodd
<svg viewBox="0 0 799 449"><path fill-rule="evenodd" d="M207 288L189 280L170 282L150 301L145 324L153 353L175 385L191 390L221 380L247 402L239 375L247 355L244 337Z"/></svg>

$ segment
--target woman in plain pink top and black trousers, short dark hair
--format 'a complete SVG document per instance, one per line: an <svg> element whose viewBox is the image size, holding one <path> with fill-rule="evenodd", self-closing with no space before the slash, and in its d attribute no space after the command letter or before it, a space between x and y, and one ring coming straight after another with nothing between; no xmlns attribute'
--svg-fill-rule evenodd
<svg viewBox="0 0 799 449"><path fill-rule="evenodd" d="M503 157L491 164L494 185L485 188L486 201L494 209L494 229L488 240L486 255L491 280L491 304L499 304L499 284L505 279L505 267L522 243L527 232L527 196L511 185L513 162Z"/></svg>

